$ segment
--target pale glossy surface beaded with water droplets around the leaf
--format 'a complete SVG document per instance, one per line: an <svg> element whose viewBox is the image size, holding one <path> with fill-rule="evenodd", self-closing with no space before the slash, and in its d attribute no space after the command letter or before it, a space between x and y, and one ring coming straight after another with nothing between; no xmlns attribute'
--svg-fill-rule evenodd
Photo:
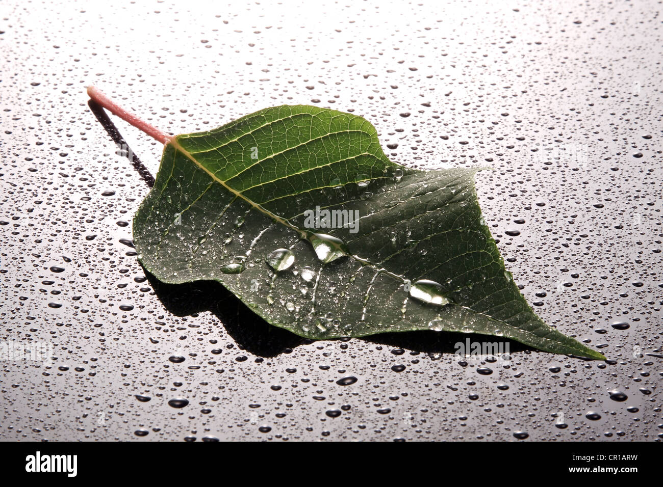
<svg viewBox="0 0 663 487"><path fill-rule="evenodd" d="M0 339L54 360L0 362L0 438L660 440L660 5L1 3ZM145 280L121 239L149 188L91 83L171 133L304 103L363 115L406 166L491 166L477 191L522 292L610 360L302 341L217 284ZM113 120L154 174L160 144Z"/></svg>

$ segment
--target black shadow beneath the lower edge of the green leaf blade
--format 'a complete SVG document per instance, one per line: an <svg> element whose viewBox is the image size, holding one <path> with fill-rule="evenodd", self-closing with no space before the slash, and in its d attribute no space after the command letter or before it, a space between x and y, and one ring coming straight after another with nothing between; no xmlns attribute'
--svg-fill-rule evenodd
<svg viewBox="0 0 663 487"><path fill-rule="evenodd" d="M143 269L145 270L145 268ZM254 355L269 358L289 353L304 343L312 343L294 333L275 327L256 315L234 294L216 281L195 281L185 284L165 284L145 270L154 294L168 311L184 317L210 311L219 324L225 327L228 335L240 349ZM406 331L400 333L380 333L363 337L362 340L394 349L406 349L428 354L453 354L458 342L492 342L497 337L487 337L474 333L453 333L450 331ZM531 350L520 343L500 339L509 343L509 352Z"/></svg>

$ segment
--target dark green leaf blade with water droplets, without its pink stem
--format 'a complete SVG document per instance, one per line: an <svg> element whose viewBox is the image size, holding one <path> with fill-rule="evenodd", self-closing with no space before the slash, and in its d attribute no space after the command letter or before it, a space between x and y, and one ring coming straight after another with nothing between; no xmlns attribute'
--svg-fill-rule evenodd
<svg viewBox="0 0 663 487"><path fill-rule="evenodd" d="M522 297L483 223L475 171L404 168L362 117L273 107L166 143L135 246L158 280L217 280L302 337L432 329L605 359Z"/></svg>

